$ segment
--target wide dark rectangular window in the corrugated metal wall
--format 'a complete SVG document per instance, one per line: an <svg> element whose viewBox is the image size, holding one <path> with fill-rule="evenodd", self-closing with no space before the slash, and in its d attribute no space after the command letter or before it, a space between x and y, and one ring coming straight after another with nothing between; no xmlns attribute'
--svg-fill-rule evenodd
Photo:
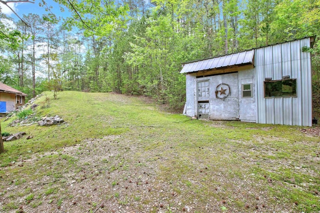
<svg viewBox="0 0 320 213"><path fill-rule="evenodd" d="M296 79L264 81L264 97L296 96Z"/></svg>

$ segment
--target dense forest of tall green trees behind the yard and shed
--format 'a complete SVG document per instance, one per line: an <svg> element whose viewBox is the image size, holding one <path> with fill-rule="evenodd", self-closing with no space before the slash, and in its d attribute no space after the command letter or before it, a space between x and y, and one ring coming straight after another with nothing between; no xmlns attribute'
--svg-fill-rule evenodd
<svg viewBox="0 0 320 213"><path fill-rule="evenodd" d="M0 13L0 81L28 98L44 90L146 95L185 102L181 63L319 35L320 0L55 0L70 11L21 20ZM320 115L320 45L312 55Z"/></svg>

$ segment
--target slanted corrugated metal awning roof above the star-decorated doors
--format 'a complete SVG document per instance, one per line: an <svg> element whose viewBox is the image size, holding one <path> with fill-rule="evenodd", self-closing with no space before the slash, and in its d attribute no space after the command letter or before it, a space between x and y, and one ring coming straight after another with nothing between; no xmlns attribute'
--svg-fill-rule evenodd
<svg viewBox="0 0 320 213"><path fill-rule="evenodd" d="M198 72L201 70L218 69L234 65L252 64L254 49L232 53L204 60L187 62L180 73Z"/></svg>

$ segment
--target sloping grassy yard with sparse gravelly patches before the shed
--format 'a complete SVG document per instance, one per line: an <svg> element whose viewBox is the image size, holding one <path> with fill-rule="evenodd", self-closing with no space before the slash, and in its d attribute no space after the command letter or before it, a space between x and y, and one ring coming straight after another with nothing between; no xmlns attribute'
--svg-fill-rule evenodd
<svg viewBox="0 0 320 213"><path fill-rule="evenodd" d="M320 211L320 139L301 127L192 120L112 93L52 96L35 113L66 124L1 121L33 138L4 142L0 212Z"/></svg>

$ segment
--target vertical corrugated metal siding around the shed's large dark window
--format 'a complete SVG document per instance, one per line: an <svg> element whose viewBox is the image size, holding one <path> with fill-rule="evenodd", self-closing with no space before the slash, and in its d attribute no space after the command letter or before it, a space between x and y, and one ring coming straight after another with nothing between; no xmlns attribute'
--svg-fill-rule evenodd
<svg viewBox="0 0 320 213"><path fill-rule="evenodd" d="M255 50L257 123L312 125L310 38ZM264 98L264 78L296 78L296 97Z"/></svg>

